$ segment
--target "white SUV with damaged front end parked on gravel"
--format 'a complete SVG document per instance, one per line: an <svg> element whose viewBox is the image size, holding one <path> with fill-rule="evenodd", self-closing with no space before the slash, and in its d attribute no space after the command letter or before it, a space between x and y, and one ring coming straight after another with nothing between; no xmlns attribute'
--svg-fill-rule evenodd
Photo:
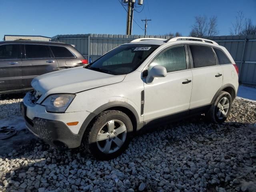
<svg viewBox="0 0 256 192"><path fill-rule="evenodd" d="M84 144L96 158L111 159L134 132L159 122L194 114L224 122L236 98L238 68L211 40L147 38L31 84L21 112L32 133L59 149Z"/></svg>

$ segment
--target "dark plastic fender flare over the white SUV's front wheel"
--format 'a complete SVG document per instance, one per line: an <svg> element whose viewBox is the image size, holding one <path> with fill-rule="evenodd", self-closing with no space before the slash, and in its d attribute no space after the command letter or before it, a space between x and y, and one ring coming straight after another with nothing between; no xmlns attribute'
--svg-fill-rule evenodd
<svg viewBox="0 0 256 192"><path fill-rule="evenodd" d="M109 103L106 103L102 106L100 106L99 108L97 108L96 110L94 110L92 113L90 113L88 115L88 117L84 120L79 132L78 132L78 135L80 136L80 141L82 141L82 137L84 135L84 132L87 128L87 126L90 124L90 122L98 115L100 114L102 111L108 109L108 108L112 108L112 107L124 107L124 108L127 108L128 110L130 110L135 118L136 118L136 121L137 121L137 124L140 122L139 120L139 116L138 116L138 113L136 112L136 110L134 109L133 106L131 106L130 104L126 103L126 102L122 102L122 101L113 101L113 102L109 102Z"/></svg>

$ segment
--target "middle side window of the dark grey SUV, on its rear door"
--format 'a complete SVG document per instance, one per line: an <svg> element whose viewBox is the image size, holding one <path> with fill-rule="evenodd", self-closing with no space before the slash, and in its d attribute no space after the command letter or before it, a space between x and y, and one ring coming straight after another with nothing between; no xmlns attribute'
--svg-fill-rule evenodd
<svg viewBox="0 0 256 192"><path fill-rule="evenodd" d="M47 45L25 44L26 59L50 58Z"/></svg>

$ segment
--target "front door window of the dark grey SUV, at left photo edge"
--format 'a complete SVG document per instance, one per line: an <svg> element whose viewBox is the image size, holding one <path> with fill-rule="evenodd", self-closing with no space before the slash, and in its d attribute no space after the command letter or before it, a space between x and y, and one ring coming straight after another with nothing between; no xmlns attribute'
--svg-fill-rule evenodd
<svg viewBox="0 0 256 192"><path fill-rule="evenodd" d="M1 45L0 59L18 59L18 45L17 44Z"/></svg>

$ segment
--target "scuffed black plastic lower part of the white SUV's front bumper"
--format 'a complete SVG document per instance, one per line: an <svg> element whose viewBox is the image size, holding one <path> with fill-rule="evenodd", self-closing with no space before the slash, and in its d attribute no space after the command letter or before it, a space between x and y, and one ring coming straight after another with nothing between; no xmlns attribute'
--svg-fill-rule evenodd
<svg viewBox="0 0 256 192"><path fill-rule="evenodd" d="M82 136L73 134L64 122L43 118L30 120L26 116L26 106L23 102L20 104L20 109L28 130L35 136L58 149L76 148L80 146Z"/></svg>

